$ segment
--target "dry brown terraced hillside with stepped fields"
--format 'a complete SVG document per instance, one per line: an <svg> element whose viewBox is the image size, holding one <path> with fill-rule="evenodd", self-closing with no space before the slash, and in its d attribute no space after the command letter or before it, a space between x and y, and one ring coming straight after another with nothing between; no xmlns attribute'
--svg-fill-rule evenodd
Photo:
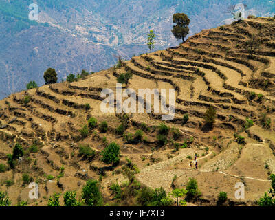
<svg viewBox="0 0 275 220"><path fill-rule="evenodd" d="M12 94L0 101L0 164L7 164L8 153L19 142L26 152L33 144L39 151L29 151L14 170L0 173L0 191L8 193L13 204L28 201L44 206L54 192L76 190L78 197L87 179L101 179L104 201L113 204L111 183L123 185L126 158L137 164L137 181L151 188L163 187L170 192L175 185L186 186L189 177L197 179L202 198L191 203L211 206L219 192L228 193L234 205L254 206L270 188L270 173L275 173L275 20L270 17L245 19L240 23L203 30L186 43L167 50L133 56L119 68L110 68L74 83L44 85ZM246 42L259 42L252 55ZM175 118L170 127L168 144L159 146L157 113L102 114L102 89L113 89L118 74L131 72L128 88L175 89ZM89 107L87 107L89 104ZM214 128L203 128L206 110L214 107ZM183 124L184 115L189 120ZM97 126L81 137L80 129L94 117L98 124L107 121L107 133ZM248 119L253 126L244 129ZM115 129L124 123L126 133L143 129L139 142L126 142ZM172 129L174 128L174 129ZM245 143L238 144L238 135ZM105 138L106 137L106 140ZM240 138L239 138L240 139ZM120 145L120 164L104 164L100 152L107 143ZM173 151L175 143L186 148ZM89 144L96 151L91 161L78 155L80 145ZM199 169L189 167L188 156L199 155ZM58 177L61 167L64 175ZM28 199L29 188L23 186L28 173L39 184L39 199ZM47 180L52 175L53 180ZM5 182L11 180L12 186ZM245 184L245 199L236 200L237 182ZM123 190L123 187L122 187ZM122 205L134 200L121 201ZM189 203L191 205L191 203Z"/></svg>

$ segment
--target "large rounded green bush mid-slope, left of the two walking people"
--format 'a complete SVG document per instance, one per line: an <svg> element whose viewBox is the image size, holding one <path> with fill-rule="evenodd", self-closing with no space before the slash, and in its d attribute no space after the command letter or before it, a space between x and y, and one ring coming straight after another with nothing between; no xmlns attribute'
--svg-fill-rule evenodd
<svg viewBox="0 0 275 220"><path fill-rule="evenodd" d="M115 142L109 144L104 151L102 151L102 161L106 164L118 164L120 162L120 146Z"/></svg>

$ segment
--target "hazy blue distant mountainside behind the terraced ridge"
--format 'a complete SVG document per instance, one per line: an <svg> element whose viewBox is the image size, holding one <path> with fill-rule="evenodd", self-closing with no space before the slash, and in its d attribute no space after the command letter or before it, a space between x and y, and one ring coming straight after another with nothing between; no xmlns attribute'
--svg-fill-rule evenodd
<svg viewBox="0 0 275 220"><path fill-rule="evenodd" d="M30 21L28 6L39 7L39 21ZM155 50L178 45L170 32L175 12L190 17L190 34L221 25L232 17L220 0L0 0L0 98L25 89L53 67L58 79L82 69L111 67L117 56L148 52L146 34L154 29ZM245 14L271 16L275 1L244 1Z"/></svg>

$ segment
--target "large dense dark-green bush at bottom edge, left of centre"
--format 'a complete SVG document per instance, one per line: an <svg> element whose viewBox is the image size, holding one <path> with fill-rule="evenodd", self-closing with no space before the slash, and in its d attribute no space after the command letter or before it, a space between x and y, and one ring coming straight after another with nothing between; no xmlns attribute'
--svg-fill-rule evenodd
<svg viewBox="0 0 275 220"><path fill-rule="evenodd" d="M99 190L99 184L96 180L87 181L86 185L83 187L82 199L87 206L101 206L102 205L102 195Z"/></svg>

